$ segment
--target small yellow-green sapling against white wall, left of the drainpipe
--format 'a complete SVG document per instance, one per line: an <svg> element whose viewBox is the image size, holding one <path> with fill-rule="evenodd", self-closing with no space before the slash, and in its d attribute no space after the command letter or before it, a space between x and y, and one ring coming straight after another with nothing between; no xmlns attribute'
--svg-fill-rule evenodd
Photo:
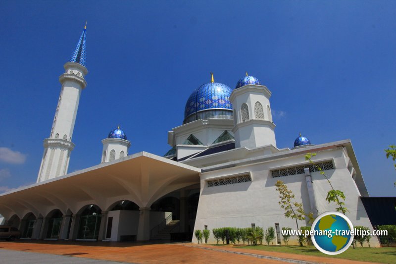
<svg viewBox="0 0 396 264"><path fill-rule="evenodd" d="M276 191L280 194L279 198L281 199L278 204L280 204L281 208L285 210L285 216L287 218L296 219L298 229L297 220L305 220L305 212L302 208L302 204L292 201L292 199L296 198L296 195L288 189L287 185L283 181L277 181L275 186Z"/></svg>

